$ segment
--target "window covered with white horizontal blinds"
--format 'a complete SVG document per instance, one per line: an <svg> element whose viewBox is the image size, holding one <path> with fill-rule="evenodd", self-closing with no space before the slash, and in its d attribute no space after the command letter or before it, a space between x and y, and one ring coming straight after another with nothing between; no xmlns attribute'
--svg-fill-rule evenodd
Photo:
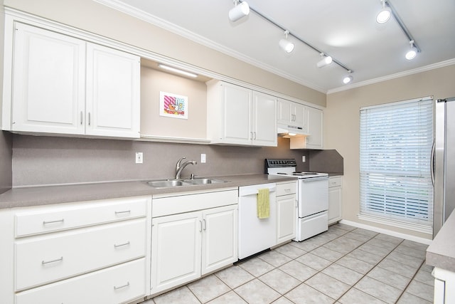
<svg viewBox="0 0 455 304"><path fill-rule="evenodd" d="M432 98L360 109L360 219L431 233L432 143Z"/></svg>

